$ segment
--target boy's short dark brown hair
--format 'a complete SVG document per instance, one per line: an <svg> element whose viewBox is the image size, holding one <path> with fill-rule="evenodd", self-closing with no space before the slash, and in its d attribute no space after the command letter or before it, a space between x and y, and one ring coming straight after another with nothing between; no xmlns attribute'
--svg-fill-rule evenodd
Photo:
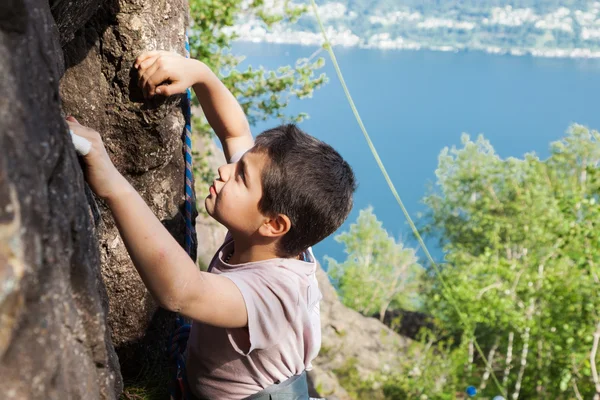
<svg viewBox="0 0 600 400"><path fill-rule="evenodd" d="M300 254L342 225L352 209L356 180L333 147L295 125L281 125L261 133L252 151L269 159L261 177L259 210L287 215L291 221L279 242L281 256Z"/></svg>

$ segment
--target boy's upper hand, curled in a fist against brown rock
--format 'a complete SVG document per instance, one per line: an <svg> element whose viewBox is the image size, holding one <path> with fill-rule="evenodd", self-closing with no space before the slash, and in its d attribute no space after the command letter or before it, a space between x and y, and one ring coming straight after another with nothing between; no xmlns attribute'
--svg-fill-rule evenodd
<svg viewBox="0 0 600 400"><path fill-rule="evenodd" d="M144 97L184 93L198 81L202 63L168 51L148 51L135 60Z"/></svg>

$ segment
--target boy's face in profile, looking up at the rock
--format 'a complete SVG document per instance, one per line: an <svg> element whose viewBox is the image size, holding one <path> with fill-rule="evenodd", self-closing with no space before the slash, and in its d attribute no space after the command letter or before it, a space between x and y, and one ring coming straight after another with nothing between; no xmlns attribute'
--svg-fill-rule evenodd
<svg viewBox="0 0 600 400"><path fill-rule="evenodd" d="M266 155L248 151L237 163L219 168L219 178L213 181L204 205L208 214L232 233L250 237L265 220L258 203L266 163Z"/></svg>

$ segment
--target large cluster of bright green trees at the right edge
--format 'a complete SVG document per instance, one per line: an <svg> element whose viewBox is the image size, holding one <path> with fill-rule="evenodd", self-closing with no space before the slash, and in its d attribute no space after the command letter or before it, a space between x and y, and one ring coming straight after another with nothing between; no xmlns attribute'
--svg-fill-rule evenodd
<svg viewBox="0 0 600 400"><path fill-rule="evenodd" d="M583 398L594 389L589 355L600 321L600 134L574 125L540 160L501 159L483 137L445 149L439 192L425 198L427 230L446 252L424 295L441 329L472 334L498 379L521 398ZM449 298L468 315L463 326ZM514 337L514 340L509 340ZM512 361L507 365L508 354ZM522 362L525 363L520 372ZM485 371L474 357L471 375ZM505 373L505 371L507 373ZM493 383L484 395L497 394Z"/></svg>

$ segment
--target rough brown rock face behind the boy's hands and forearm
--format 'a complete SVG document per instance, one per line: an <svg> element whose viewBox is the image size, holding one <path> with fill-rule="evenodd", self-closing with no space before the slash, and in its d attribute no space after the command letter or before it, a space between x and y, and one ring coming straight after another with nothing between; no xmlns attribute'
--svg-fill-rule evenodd
<svg viewBox="0 0 600 400"><path fill-rule="evenodd" d="M146 50L183 54L186 16L183 0L107 0L65 46L67 70L60 85L65 112L100 132L115 166L182 244L183 96L144 100L133 64ZM108 323L124 376L135 376L166 361L174 315L157 309L109 210L103 204L99 209Z"/></svg>

